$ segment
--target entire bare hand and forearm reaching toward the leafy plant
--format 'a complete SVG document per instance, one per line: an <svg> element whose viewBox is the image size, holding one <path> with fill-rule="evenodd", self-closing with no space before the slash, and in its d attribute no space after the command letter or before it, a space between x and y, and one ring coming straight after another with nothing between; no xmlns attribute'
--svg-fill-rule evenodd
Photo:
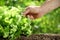
<svg viewBox="0 0 60 40"><path fill-rule="evenodd" d="M29 6L24 12L24 16L31 19L40 18L51 10L60 7L60 0L46 0L41 6Z"/></svg>

